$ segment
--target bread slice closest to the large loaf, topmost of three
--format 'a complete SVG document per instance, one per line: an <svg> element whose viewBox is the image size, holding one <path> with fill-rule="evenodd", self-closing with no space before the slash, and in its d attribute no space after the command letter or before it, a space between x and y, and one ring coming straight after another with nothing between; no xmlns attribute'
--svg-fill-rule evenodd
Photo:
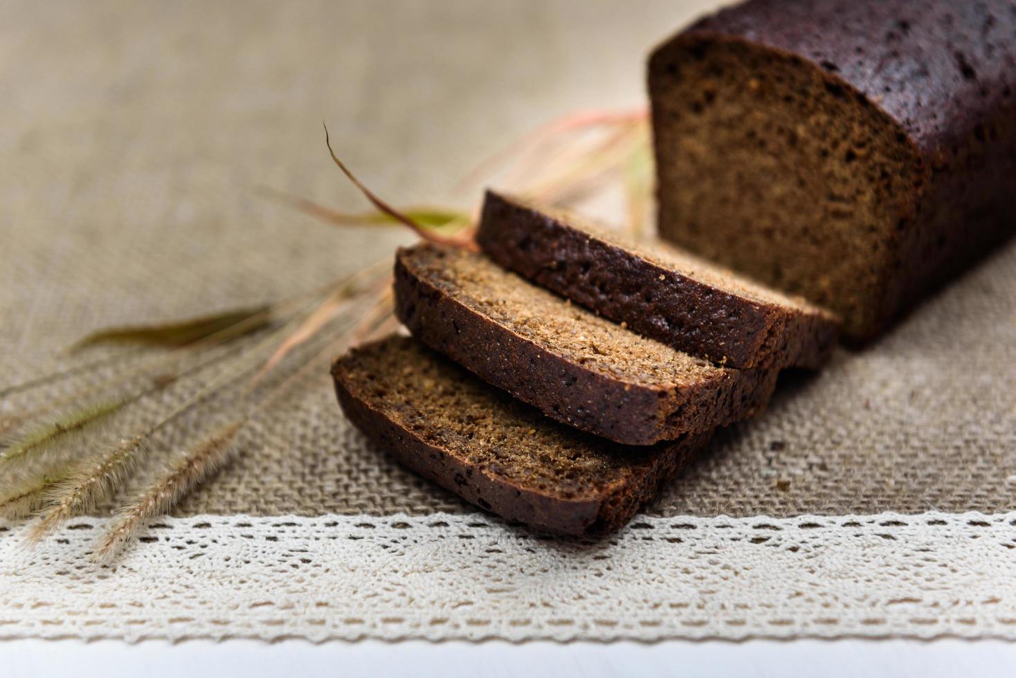
<svg viewBox="0 0 1016 678"><path fill-rule="evenodd" d="M674 348L733 367L818 367L836 318L662 242L635 242L487 192L477 241L548 289Z"/></svg>

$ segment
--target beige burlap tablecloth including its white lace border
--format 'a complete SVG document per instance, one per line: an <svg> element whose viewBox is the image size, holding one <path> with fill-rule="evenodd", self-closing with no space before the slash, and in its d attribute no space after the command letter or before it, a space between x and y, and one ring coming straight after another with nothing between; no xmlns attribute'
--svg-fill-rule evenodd
<svg viewBox="0 0 1016 678"><path fill-rule="evenodd" d="M648 50L713 4L0 0L0 384L73 364L61 350L90 330L280 298L411 242L257 195L364 207L322 120L393 202L469 207L454 183L534 126L644 106ZM101 519L27 554L0 539L0 636L1013 637L1016 246L869 350L784 376L596 545L397 467L325 372L117 572L87 559Z"/></svg>

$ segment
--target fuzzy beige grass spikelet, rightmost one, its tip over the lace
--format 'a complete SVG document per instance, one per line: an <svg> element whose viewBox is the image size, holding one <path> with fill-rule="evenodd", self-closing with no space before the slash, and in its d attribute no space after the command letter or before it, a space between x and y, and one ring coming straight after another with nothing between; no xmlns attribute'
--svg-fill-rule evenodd
<svg viewBox="0 0 1016 678"><path fill-rule="evenodd" d="M233 455L233 443L243 426L236 421L204 438L172 465L128 506L118 512L116 524L106 533L93 557L109 559L115 555L145 521L162 516L194 487L215 473Z"/></svg>

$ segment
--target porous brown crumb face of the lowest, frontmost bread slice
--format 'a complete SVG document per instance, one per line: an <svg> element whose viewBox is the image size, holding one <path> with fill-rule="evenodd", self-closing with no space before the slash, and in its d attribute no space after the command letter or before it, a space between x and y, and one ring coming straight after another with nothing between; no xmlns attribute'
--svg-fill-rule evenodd
<svg viewBox="0 0 1016 678"><path fill-rule="evenodd" d="M471 466L564 499L597 497L646 453L555 423L408 337L392 337L340 362L346 387L432 445Z"/></svg>

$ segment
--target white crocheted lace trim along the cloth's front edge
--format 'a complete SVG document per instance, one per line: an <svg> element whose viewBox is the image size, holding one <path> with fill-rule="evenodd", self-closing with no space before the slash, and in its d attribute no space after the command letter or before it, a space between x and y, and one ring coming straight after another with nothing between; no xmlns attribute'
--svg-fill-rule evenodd
<svg viewBox="0 0 1016 678"><path fill-rule="evenodd" d="M1016 514L640 518L612 539L480 516L167 519L114 568L78 520L0 536L0 637L1016 638Z"/></svg>

